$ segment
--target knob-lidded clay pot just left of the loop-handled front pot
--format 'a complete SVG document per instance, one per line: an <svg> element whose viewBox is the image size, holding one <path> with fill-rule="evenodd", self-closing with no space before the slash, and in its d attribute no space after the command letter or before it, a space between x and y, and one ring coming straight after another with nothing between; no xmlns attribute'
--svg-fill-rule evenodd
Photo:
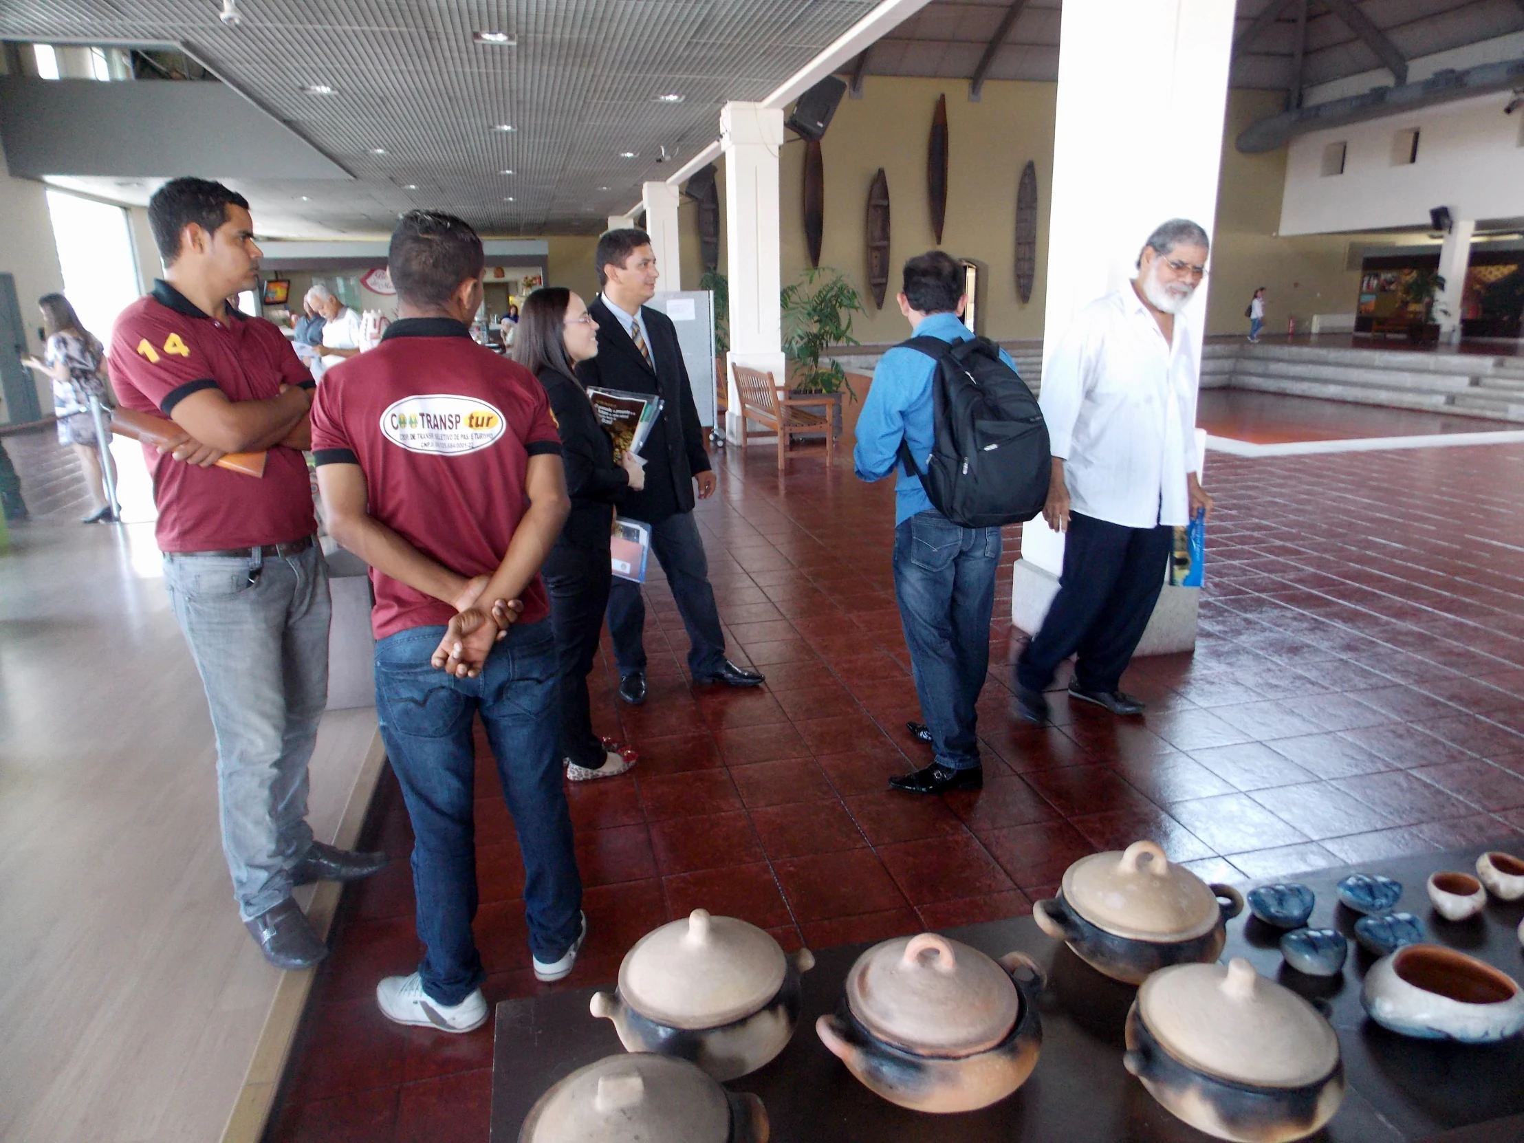
<svg viewBox="0 0 1524 1143"><path fill-rule="evenodd" d="M773 1059L799 1024L808 948L785 956L756 925L695 908L646 933L619 966L619 989L593 994L629 1052L690 1059L719 1081Z"/></svg>

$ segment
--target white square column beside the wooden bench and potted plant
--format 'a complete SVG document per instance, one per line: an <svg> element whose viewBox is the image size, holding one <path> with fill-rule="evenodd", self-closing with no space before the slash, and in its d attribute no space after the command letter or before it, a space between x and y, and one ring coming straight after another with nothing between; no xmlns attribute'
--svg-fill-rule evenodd
<svg viewBox="0 0 1524 1143"><path fill-rule="evenodd" d="M719 145L725 154L725 242L730 279L730 364L773 373L786 384L783 314L779 308L780 245L777 152L783 145L783 111L762 104L725 104L719 110ZM741 399L727 369L730 411L725 436L739 442Z"/></svg>

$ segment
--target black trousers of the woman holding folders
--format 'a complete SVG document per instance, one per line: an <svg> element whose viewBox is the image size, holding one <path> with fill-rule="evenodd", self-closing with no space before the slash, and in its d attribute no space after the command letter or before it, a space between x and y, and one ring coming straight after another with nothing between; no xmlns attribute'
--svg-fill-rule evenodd
<svg viewBox="0 0 1524 1143"><path fill-rule="evenodd" d="M556 546L541 568L550 594L550 626L556 634L556 700L561 712L561 757L596 770L607 751L593 733L587 677L597 657L604 607L613 572L608 547Z"/></svg>

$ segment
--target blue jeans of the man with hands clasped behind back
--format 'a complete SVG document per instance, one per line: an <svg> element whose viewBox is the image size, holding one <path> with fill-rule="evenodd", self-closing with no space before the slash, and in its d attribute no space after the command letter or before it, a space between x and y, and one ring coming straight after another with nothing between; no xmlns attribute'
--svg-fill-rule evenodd
<svg viewBox="0 0 1524 1143"><path fill-rule="evenodd" d="M556 750L556 643L550 622L514 625L475 678L430 666L442 626L398 631L376 643L376 716L413 821L413 892L424 991L459 1004L482 983L471 936L477 910L475 748L482 716L503 799L524 855L529 948L565 956L581 933L582 878Z"/></svg>

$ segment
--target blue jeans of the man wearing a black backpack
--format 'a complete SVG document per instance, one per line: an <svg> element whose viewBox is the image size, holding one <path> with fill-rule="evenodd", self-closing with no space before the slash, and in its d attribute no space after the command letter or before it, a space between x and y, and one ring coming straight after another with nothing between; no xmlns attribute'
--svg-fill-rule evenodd
<svg viewBox="0 0 1524 1143"><path fill-rule="evenodd" d="M895 529L895 599L936 760L980 765L975 710L989 668L998 527L959 527L917 512Z"/></svg>

